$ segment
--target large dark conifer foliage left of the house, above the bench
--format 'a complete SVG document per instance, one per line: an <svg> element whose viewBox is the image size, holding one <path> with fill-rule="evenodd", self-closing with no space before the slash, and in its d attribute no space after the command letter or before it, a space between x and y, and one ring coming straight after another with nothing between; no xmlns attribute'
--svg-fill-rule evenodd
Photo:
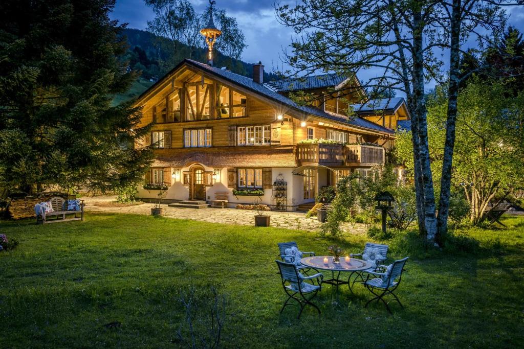
<svg viewBox="0 0 524 349"><path fill-rule="evenodd" d="M152 152L141 110L111 106L135 80L119 58L112 1L2 2L0 187L113 190L143 177ZM23 15L22 15L23 14Z"/></svg>

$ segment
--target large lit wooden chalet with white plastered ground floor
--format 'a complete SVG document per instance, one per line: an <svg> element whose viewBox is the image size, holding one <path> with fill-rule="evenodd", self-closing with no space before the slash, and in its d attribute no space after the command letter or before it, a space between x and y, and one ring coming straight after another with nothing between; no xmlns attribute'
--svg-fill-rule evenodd
<svg viewBox="0 0 524 349"><path fill-rule="evenodd" d="M146 182L166 184L173 201L219 195L230 207L259 198L295 210L340 176L384 164L397 123L409 120L402 98L367 101L351 114L366 100L355 77L264 83L263 71L254 64L252 79L186 59L141 95L156 156ZM318 98L297 104L289 94L298 90ZM138 190L141 198L157 193Z"/></svg>

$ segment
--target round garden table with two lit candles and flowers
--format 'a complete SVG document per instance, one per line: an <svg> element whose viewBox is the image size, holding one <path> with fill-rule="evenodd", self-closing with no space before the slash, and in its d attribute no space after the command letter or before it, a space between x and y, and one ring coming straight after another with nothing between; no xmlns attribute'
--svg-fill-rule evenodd
<svg viewBox="0 0 524 349"><path fill-rule="evenodd" d="M324 263L324 258L328 258L328 263ZM309 266L314 269L331 271L331 279L324 279L322 283L334 285L336 287L336 299L339 300L339 285L347 284L350 286L350 280L347 281L340 279L340 273L342 272L357 272L369 269L369 265L366 261L359 260L358 258L350 258L350 262L346 262L345 257L340 257L340 262L333 262L332 256L311 256L305 257L300 260L303 265ZM336 273L336 277L335 277ZM351 290L351 289L350 289Z"/></svg>

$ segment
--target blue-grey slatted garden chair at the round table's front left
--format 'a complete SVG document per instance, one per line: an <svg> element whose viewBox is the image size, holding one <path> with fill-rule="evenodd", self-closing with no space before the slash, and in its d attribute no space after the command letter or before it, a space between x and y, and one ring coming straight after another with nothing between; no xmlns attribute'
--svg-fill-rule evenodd
<svg viewBox="0 0 524 349"><path fill-rule="evenodd" d="M291 299L294 299L298 302L300 306L300 312L298 313L297 319L300 319L300 315L302 314L302 310L304 310L305 306L310 305L314 307L320 315L320 309L316 305L314 305L313 302L311 302L311 299L313 299L316 294L322 289L322 279L324 276L321 273L317 273L315 275L311 276L303 276L299 271L296 265L293 263L286 263L281 261L275 261L277 262L278 269L280 271L280 276L282 279L282 287L284 288L284 291L289 296L288 299L284 302L284 305L282 306L282 309L280 309L280 313L286 308L286 306L290 305L289 301ZM316 283L318 285L309 284L305 282L305 280L313 280L316 279Z"/></svg>

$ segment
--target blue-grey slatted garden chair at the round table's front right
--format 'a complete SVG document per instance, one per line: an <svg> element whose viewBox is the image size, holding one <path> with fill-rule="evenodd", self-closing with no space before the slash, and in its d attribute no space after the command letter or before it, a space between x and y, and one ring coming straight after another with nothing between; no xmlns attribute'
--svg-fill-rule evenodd
<svg viewBox="0 0 524 349"><path fill-rule="evenodd" d="M402 278L402 271L404 271L404 265L406 264L406 261L409 257L403 258L402 260L398 260L390 264L389 266L380 265L377 269L382 269L383 273L368 271L367 272L367 278L364 281L364 286L373 294L375 295L375 298L372 298L367 301L364 308L367 308L368 304L374 300L381 300L384 305L386 306L386 309L391 313L391 309L389 309L389 302L386 303L384 300L384 296L390 294L395 298L395 300L400 304L400 307L404 308L402 306L402 303L398 299L398 297L393 293L400 285L400 280ZM370 278L370 276L376 276L373 278Z"/></svg>

